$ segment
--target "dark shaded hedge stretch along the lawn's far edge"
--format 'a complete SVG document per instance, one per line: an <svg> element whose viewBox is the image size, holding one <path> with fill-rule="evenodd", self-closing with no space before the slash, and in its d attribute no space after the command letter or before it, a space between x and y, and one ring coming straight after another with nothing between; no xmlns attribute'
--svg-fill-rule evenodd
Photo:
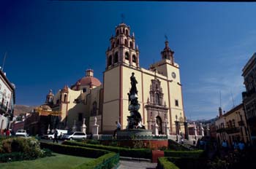
<svg viewBox="0 0 256 169"><path fill-rule="evenodd" d="M67 155L74 155L80 157L89 157L89 158L98 158L102 155L108 154L109 151L101 149L91 149L81 146L68 146L61 144L52 144L52 143L40 143L41 148L50 149L53 152Z"/></svg>

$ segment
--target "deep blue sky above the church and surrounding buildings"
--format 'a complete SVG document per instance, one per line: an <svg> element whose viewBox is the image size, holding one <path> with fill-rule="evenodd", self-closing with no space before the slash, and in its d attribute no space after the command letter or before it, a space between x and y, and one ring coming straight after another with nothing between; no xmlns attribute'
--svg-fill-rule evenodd
<svg viewBox="0 0 256 169"><path fill-rule="evenodd" d="M217 116L219 90L228 111L241 103L241 69L256 44L255 3L0 1L0 63L16 85L16 103L44 103L86 68L102 81L115 26L135 32L140 66L160 60L165 34L175 51L189 119ZM232 93L232 94L231 94Z"/></svg>

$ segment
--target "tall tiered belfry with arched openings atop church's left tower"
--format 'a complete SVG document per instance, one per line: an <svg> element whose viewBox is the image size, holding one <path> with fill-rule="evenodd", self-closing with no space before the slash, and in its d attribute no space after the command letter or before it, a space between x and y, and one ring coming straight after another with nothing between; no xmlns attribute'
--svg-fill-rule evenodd
<svg viewBox="0 0 256 169"><path fill-rule="evenodd" d="M139 50L135 47L135 35L125 23L116 26L116 35L110 37L110 47L106 51L106 70L126 64L138 68Z"/></svg>

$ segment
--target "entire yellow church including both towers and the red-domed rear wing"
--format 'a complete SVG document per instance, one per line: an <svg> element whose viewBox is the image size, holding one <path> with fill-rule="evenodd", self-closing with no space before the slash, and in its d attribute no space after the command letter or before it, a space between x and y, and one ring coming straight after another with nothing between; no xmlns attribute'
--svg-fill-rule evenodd
<svg viewBox="0 0 256 169"><path fill-rule="evenodd" d="M165 42L159 61L149 68L140 67L140 52L135 47L135 36L124 23L116 26L115 36L110 38L110 47L106 51L106 67L103 82L93 76L93 70L71 87L65 86L56 95L49 93L46 104L54 111L61 111L59 126L80 130L83 118L86 118L87 132L91 133L94 117L97 117L99 133L113 133L116 121L121 128L127 128L127 116L130 116L127 93L131 88L130 76L135 73L138 81L138 102L142 125L153 130L159 126L159 134L184 133L185 121L182 85L179 66L174 62L174 52ZM169 129L170 133L167 133Z"/></svg>

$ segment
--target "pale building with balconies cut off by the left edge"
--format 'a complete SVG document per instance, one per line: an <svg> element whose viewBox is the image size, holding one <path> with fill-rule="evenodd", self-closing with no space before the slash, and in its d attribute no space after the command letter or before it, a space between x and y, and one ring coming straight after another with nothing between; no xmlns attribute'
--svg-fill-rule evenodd
<svg viewBox="0 0 256 169"><path fill-rule="evenodd" d="M9 129L15 104L15 85L0 70L0 130Z"/></svg>

